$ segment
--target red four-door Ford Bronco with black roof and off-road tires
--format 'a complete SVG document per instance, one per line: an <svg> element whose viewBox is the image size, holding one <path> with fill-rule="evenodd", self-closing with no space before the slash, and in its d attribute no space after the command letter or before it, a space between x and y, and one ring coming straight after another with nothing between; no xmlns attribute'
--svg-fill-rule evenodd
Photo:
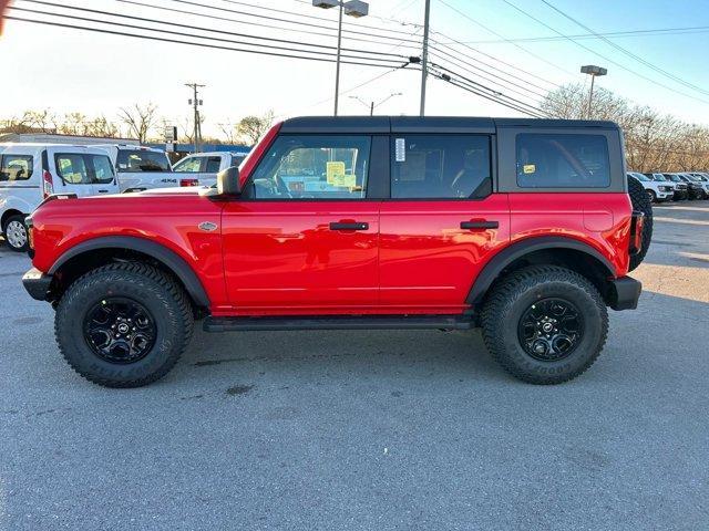
<svg viewBox="0 0 709 531"><path fill-rule="evenodd" d="M557 384L600 353L607 306L637 305L651 218L629 186L610 122L300 117L213 188L48 198L23 282L69 364L111 387L164 376L195 320L482 326L507 372Z"/></svg>

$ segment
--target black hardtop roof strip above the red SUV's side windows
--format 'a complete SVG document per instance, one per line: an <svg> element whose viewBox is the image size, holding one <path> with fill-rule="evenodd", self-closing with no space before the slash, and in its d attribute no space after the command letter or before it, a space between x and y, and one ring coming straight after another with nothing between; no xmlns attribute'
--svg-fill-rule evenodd
<svg viewBox="0 0 709 531"><path fill-rule="evenodd" d="M599 119L492 118L475 116L299 116L282 123L284 133L494 133L497 127L605 128L614 122Z"/></svg>

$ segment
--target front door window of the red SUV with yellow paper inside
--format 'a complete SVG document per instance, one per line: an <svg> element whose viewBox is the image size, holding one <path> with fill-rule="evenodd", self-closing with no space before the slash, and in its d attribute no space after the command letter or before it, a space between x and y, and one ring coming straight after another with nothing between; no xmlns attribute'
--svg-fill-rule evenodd
<svg viewBox="0 0 709 531"><path fill-rule="evenodd" d="M361 199L367 196L369 136L284 135L253 175L258 199Z"/></svg>

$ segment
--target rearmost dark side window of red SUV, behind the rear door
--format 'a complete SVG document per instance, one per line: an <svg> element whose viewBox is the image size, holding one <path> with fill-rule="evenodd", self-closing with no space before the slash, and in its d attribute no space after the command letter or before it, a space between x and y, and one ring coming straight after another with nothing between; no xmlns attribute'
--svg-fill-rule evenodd
<svg viewBox="0 0 709 531"><path fill-rule="evenodd" d="M607 188L608 142L603 135L520 134L516 171L522 188Z"/></svg>

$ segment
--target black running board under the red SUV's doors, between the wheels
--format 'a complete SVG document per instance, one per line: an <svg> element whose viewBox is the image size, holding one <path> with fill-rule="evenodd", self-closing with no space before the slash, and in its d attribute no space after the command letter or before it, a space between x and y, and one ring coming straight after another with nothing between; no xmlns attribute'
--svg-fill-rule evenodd
<svg viewBox="0 0 709 531"><path fill-rule="evenodd" d="M275 330L470 330L473 320L465 315L404 316L288 316L288 317L207 317L205 332Z"/></svg>

